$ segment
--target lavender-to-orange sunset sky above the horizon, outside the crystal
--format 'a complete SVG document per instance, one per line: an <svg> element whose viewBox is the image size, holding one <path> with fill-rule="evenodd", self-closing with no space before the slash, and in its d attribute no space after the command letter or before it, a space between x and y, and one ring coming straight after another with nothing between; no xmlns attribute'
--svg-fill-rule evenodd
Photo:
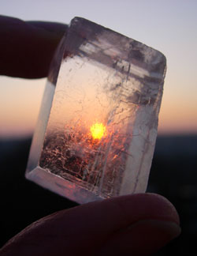
<svg viewBox="0 0 197 256"><path fill-rule="evenodd" d="M159 134L197 133L197 1L1 0L2 15L68 24L85 17L167 58ZM46 79L0 77L0 138L32 134Z"/></svg>

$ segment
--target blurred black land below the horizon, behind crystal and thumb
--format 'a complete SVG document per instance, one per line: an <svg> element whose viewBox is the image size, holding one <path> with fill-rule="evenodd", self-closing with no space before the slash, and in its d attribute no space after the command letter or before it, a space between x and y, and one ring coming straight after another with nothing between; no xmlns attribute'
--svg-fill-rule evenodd
<svg viewBox="0 0 197 256"><path fill-rule="evenodd" d="M24 178L31 137L0 139L1 246L33 221L77 205ZM182 235L155 255L197 253L197 136L160 136L147 191L162 194L180 214Z"/></svg>

